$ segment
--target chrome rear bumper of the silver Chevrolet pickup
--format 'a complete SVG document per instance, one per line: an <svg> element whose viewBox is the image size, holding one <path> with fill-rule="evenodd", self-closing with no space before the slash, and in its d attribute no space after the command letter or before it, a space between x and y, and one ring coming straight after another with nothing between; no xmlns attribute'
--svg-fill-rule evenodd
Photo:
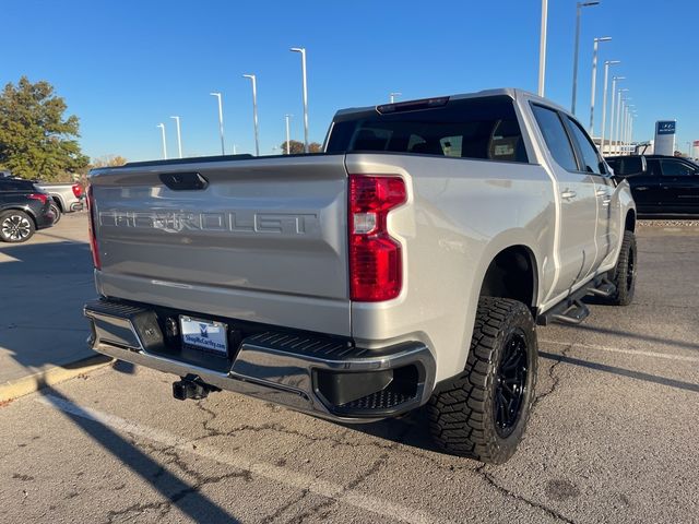
<svg viewBox="0 0 699 524"><path fill-rule="evenodd" d="M168 352L163 319L147 306L102 299L87 302L84 314L95 352L333 420L396 416L426 403L434 388L435 359L417 342L369 350L346 341L264 331L244 336L223 367L218 357L216 366L206 366Z"/></svg>

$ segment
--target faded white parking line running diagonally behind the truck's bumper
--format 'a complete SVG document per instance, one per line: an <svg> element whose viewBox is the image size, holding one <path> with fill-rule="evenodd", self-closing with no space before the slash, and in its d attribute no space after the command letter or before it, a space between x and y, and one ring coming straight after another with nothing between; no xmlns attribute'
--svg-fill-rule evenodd
<svg viewBox="0 0 699 524"><path fill-rule="evenodd" d="M306 489L315 495L333 499L354 508L370 511L388 519L398 519L403 522L415 524L449 522L437 519L420 510L378 499L353 489L345 489L340 485L322 480L319 477L312 477L310 475L297 473L292 469L286 469L284 467L274 466L263 462L256 462L245 455L232 455L223 450L215 449L205 442L198 442L197 449L192 449L192 445L188 444L187 439L182 437L126 420L115 415L98 412L97 409L79 406L72 402L54 395L45 395L36 398L36 402L87 420L94 420L123 433L142 437L167 446L173 446L179 451L200 455L220 464L235 467L236 469L247 471L253 475L259 475L260 477L283 484L294 489Z"/></svg>

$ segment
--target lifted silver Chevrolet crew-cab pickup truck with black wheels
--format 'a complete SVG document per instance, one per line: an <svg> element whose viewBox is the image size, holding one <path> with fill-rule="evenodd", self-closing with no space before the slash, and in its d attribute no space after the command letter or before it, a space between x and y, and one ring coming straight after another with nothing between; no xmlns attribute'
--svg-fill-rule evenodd
<svg viewBox="0 0 699 524"><path fill-rule="evenodd" d="M517 90L336 114L322 154L91 174L99 353L345 422L426 406L501 463L536 324L631 301L636 211L583 128Z"/></svg>

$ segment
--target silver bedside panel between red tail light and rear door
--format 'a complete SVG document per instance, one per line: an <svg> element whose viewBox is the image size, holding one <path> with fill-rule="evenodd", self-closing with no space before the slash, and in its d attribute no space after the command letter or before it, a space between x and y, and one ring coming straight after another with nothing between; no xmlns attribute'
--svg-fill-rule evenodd
<svg viewBox="0 0 699 524"><path fill-rule="evenodd" d="M389 215L404 246L401 296L352 305L362 344L420 340L437 356L437 380L464 369L483 277L495 255L522 245L540 289L554 276L553 186L541 166L418 155L350 154L350 174L400 175L407 202ZM541 295L541 293L540 293Z"/></svg>

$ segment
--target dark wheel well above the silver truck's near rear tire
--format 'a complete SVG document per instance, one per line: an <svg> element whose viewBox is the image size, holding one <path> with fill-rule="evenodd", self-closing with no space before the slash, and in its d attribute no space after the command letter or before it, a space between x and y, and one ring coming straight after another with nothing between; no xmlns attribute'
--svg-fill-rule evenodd
<svg viewBox="0 0 699 524"><path fill-rule="evenodd" d="M512 298L535 308L537 278L534 253L524 246L512 246L490 262L481 296Z"/></svg>

